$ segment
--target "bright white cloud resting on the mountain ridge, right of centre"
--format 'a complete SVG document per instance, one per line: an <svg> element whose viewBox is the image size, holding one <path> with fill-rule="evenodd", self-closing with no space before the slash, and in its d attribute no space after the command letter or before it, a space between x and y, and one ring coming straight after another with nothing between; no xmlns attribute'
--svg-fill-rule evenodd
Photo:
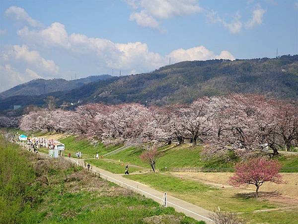
<svg viewBox="0 0 298 224"><path fill-rule="evenodd" d="M228 51L222 51L220 55L214 54L211 50L204 46L193 47L189 49L177 49L172 51L169 55L171 60L176 63L179 61L193 61L193 60L208 60L208 59L230 59L235 60L235 57Z"/></svg>

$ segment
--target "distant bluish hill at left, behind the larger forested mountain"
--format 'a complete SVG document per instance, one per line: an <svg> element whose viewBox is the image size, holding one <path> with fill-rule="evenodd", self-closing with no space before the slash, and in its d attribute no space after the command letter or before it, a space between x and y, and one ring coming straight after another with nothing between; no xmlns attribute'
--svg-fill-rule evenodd
<svg viewBox="0 0 298 224"><path fill-rule="evenodd" d="M111 78L110 75L89 76L70 81L65 79L35 79L0 93L0 97L3 99L12 96L34 96L57 91L69 91L79 88L87 83L96 82L98 80L106 80L109 78Z"/></svg>

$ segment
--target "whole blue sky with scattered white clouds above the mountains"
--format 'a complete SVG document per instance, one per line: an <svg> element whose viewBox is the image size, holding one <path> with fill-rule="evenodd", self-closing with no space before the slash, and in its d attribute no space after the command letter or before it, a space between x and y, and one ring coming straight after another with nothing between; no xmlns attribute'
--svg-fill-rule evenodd
<svg viewBox="0 0 298 224"><path fill-rule="evenodd" d="M298 0L0 0L0 92L36 78L298 54Z"/></svg>

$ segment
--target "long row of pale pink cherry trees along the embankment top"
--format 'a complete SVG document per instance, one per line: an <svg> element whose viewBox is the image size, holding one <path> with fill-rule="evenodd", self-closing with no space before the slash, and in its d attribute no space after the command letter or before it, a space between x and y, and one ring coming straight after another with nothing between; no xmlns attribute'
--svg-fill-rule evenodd
<svg viewBox="0 0 298 224"><path fill-rule="evenodd" d="M246 155L269 145L274 154L298 143L298 108L259 95L203 97L190 105L145 107L140 104L87 104L75 111L40 110L24 115L20 127L84 134L103 141L191 139L211 154L234 150Z"/></svg>

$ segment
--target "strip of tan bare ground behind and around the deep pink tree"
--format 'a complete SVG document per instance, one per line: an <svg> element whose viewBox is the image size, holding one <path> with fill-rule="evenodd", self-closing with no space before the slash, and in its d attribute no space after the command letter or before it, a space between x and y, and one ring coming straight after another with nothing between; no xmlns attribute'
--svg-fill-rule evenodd
<svg viewBox="0 0 298 224"><path fill-rule="evenodd" d="M215 187L222 188L232 188L235 191L241 192L254 192L255 186L246 185L241 188L234 188L227 184L228 178L232 176L232 173L183 173L183 172L171 172L171 175L186 178L190 180L196 180L201 183L210 184ZM289 203L295 201L298 203L298 173L282 173L283 180L286 184L275 184L271 182L266 182L260 187L260 192L273 192L276 196L276 200L288 200ZM292 203L291 203L292 204Z"/></svg>

